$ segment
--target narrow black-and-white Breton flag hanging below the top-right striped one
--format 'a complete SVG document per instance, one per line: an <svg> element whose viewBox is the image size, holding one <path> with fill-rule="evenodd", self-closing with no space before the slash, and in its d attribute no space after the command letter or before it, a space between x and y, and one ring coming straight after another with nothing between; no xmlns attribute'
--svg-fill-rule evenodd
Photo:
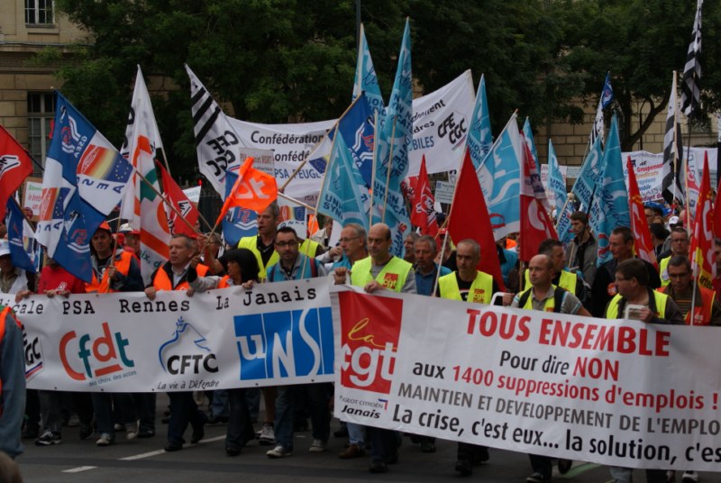
<svg viewBox="0 0 721 483"><path fill-rule="evenodd" d="M676 101L676 72L673 72L671 96L669 97L669 114L666 116L666 132L663 136L663 180L662 196L669 205L673 198L681 204L686 203L684 196L683 145L681 144L681 126L678 122Z"/></svg>

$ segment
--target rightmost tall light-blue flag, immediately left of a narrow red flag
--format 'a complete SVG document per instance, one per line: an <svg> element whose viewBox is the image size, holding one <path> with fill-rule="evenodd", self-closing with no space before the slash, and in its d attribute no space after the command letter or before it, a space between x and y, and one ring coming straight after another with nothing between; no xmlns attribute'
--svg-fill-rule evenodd
<svg viewBox="0 0 721 483"><path fill-rule="evenodd" d="M596 188L597 194L593 197L589 213L589 223L598 241L598 265L611 260L608 237L614 228L618 226L631 227L631 215L628 212L628 189L625 187L616 115L611 120L606 150L601 159L601 178L601 184Z"/></svg>

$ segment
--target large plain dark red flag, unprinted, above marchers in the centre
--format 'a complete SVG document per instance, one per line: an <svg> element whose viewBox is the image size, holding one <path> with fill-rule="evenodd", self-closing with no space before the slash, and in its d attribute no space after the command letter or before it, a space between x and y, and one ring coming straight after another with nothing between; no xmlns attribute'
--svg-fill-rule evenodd
<svg viewBox="0 0 721 483"><path fill-rule="evenodd" d="M486 199L480 190L479 178L476 170L473 169L473 161L470 160L468 149L463 158L461 175L456 183L451 213L448 214L448 232L451 233L451 238L456 243L466 238L479 243L480 262L477 269L492 276L496 285L505 291L506 285L503 283L496 240L493 236L493 229L490 227L488 206L486 206Z"/></svg>

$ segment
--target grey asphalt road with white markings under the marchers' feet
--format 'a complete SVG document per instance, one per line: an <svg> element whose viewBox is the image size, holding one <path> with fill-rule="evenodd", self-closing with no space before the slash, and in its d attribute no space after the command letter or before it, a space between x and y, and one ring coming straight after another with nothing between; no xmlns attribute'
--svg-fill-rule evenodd
<svg viewBox="0 0 721 483"><path fill-rule="evenodd" d="M165 407L159 398L160 409ZM160 421L160 418L159 418ZM332 429L338 427L333 421ZM18 459L23 478L28 483L84 483L102 481L159 483L219 483L237 482L252 478L253 483L267 481L484 481L489 483L523 483L531 473L524 454L491 450L488 465L476 468L470 478L460 478L453 470L456 445L454 442L437 443L434 454L420 452L419 446L404 438L400 461L384 475L368 472L368 458L340 460L344 439L331 438L328 451L309 453L310 432L296 434L293 456L283 460L269 460L267 446L251 442L238 457L224 452L225 426L206 426L205 440L186 444L182 451L166 453L166 425L158 426L159 433L147 440L126 441L118 433L117 442L110 447L97 447L95 438L80 441L78 428L64 428L63 442L57 446L36 447L32 440L25 441L25 453ZM190 430L188 429L188 432ZM186 440L190 434L187 433ZM635 481L643 483L643 471L635 472ZM606 468L576 462L566 475L554 475L556 481L576 483L606 483L610 480ZM721 481L719 474L702 474L704 482Z"/></svg>

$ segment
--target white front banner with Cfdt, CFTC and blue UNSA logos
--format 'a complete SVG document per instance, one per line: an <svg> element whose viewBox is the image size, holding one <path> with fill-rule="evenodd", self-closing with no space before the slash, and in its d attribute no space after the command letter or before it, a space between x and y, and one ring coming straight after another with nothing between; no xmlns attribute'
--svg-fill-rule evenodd
<svg viewBox="0 0 721 483"><path fill-rule="evenodd" d="M328 278L211 290L31 296L28 387L155 392L333 380Z"/></svg>

